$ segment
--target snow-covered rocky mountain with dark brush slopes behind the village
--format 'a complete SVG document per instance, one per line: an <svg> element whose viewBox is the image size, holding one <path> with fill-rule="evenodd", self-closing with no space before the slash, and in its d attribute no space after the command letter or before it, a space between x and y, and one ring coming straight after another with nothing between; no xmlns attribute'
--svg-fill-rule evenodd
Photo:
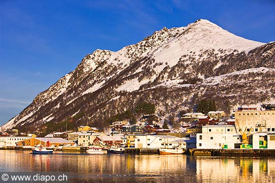
<svg viewBox="0 0 275 183"><path fill-rule="evenodd" d="M235 36L208 20L162 28L117 52L95 50L2 130L39 128L78 114L79 125L154 103L162 117L213 99L220 110L274 100L275 43ZM80 115L81 114L81 115Z"/></svg>

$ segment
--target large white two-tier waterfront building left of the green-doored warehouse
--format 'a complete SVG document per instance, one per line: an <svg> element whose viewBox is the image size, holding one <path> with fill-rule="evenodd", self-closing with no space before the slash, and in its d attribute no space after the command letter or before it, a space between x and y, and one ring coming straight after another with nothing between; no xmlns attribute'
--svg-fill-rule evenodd
<svg viewBox="0 0 275 183"><path fill-rule="evenodd" d="M239 148L240 144L241 136L233 125L206 125L197 134L200 149Z"/></svg>

